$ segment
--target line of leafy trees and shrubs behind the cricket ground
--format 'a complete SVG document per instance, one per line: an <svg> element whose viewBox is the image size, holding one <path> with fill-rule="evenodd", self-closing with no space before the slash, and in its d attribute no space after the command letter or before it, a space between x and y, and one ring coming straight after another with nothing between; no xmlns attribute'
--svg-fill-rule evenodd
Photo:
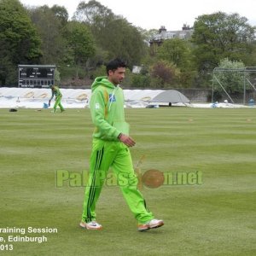
<svg viewBox="0 0 256 256"><path fill-rule="evenodd" d="M54 64L59 83L89 86L119 56L129 67L124 87L207 88L214 67L256 66L255 30L238 14L200 15L189 40L167 39L152 55L148 41L158 30L133 26L95 0L80 2L71 19L59 5L0 0L0 86L17 85L18 64Z"/></svg>

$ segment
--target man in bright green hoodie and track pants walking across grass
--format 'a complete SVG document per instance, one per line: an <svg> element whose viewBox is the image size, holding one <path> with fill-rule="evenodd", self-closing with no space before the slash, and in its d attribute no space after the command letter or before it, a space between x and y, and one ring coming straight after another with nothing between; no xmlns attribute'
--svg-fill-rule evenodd
<svg viewBox="0 0 256 256"><path fill-rule="evenodd" d="M119 59L109 61L108 76L97 77L91 85L90 114L96 128L80 222L80 226L87 230L102 230L102 224L96 222L95 210L109 167L115 173L125 201L137 218L137 229L144 231L164 224L162 220L154 218L137 189L138 180L129 149L136 143L129 136L129 125L125 122L124 94L119 87L119 83L125 78L125 67L125 62Z"/></svg>

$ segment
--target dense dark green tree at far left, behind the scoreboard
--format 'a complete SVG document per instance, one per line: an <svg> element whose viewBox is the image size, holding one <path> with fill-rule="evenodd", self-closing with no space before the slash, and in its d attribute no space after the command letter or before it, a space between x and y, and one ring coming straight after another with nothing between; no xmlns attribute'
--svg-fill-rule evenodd
<svg viewBox="0 0 256 256"><path fill-rule="evenodd" d="M0 83L15 84L18 64L37 63L40 38L18 0L0 0Z"/></svg>

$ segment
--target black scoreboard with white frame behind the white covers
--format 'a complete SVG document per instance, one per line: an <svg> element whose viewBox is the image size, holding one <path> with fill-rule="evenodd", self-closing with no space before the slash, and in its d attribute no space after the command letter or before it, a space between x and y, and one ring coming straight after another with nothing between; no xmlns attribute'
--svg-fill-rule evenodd
<svg viewBox="0 0 256 256"><path fill-rule="evenodd" d="M49 88L55 83L53 65L19 65L19 87Z"/></svg>

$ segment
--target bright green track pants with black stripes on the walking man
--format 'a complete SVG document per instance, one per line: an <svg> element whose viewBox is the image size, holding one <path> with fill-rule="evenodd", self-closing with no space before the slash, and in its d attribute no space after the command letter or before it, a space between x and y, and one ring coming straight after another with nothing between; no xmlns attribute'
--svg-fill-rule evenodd
<svg viewBox="0 0 256 256"><path fill-rule="evenodd" d="M125 201L138 223L143 224L154 218L152 212L149 212L146 207L143 195L137 189L137 176L133 170L129 148L124 143L93 139L82 220L90 222L96 219L96 201L102 191L109 167L113 169Z"/></svg>

